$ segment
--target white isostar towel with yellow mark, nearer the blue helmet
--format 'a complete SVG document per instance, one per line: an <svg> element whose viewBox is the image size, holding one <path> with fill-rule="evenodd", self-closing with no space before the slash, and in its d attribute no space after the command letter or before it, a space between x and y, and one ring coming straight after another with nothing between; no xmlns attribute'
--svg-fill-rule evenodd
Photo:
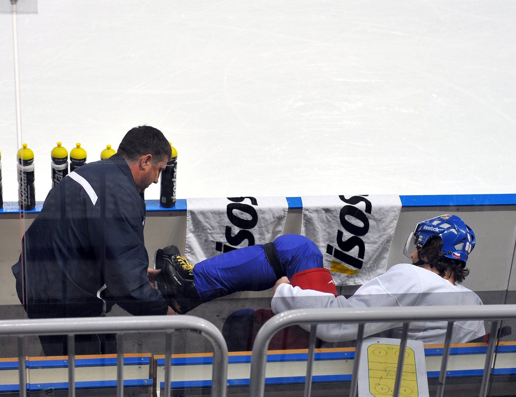
<svg viewBox="0 0 516 397"><path fill-rule="evenodd" d="M385 272L401 211L397 195L307 196L301 234L315 242L336 285L360 285Z"/></svg>

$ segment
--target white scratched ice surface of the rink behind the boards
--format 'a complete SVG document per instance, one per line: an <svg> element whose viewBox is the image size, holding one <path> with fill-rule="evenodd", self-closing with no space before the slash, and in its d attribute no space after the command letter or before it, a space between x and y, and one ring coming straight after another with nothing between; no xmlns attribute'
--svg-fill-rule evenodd
<svg viewBox="0 0 516 397"><path fill-rule="evenodd" d="M5 201L22 142L42 201L57 141L90 162L140 124L178 149L178 198L516 193L516 2L37 6L17 16L21 137L0 13Z"/></svg>

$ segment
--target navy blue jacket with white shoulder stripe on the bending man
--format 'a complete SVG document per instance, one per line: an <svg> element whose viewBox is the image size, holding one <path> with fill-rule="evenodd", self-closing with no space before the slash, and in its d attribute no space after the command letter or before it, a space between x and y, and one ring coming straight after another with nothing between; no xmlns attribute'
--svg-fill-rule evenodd
<svg viewBox="0 0 516 397"><path fill-rule="evenodd" d="M47 195L12 267L29 318L167 312L149 285L145 203L120 155L77 168Z"/></svg>

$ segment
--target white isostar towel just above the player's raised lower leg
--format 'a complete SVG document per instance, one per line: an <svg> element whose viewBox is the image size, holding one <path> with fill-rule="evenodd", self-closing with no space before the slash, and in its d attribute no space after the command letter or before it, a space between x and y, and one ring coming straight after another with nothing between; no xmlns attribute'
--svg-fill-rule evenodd
<svg viewBox="0 0 516 397"><path fill-rule="evenodd" d="M221 252L265 244L283 234L285 197L189 198L185 256L198 263Z"/></svg>

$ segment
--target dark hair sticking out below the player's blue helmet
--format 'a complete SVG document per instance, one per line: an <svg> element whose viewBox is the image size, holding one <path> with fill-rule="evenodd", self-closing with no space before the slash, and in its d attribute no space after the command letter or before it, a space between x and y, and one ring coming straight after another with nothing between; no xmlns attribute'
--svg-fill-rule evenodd
<svg viewBox="0 0 516 397"><path fill-rule="evenodd" d="M431 268L435 268L441 277L446 274L446 271L449 271L449 275L454 278L456 283L462 283L464 278L470 274L470 270L466 268L464 261L442 256L442 247L443 240L438 236L432 236L421 248L419 257L425 260Z"/></svg>

